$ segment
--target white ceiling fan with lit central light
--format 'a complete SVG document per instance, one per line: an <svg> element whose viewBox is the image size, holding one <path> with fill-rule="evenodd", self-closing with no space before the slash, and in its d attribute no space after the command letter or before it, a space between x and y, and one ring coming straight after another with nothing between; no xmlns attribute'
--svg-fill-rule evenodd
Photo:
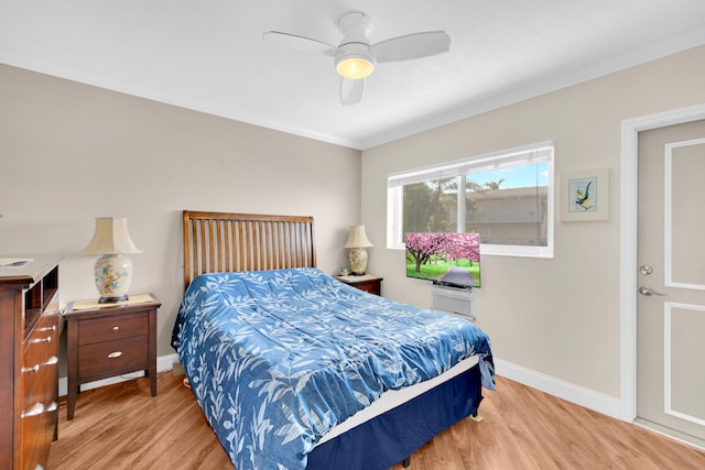
<svg viewBox="0 0 705 470"><path fill-rule="evenodd" d="M360 102L365 95L365 79L377 64L427 57L451 50L451 37L445 31L412 33L370 44L372 19L359 11L343 14L338 19L338 28L343 39L337 46L281 31L268 31L262 39L284 47L333 57L341 77L343 105Z"/></svg>

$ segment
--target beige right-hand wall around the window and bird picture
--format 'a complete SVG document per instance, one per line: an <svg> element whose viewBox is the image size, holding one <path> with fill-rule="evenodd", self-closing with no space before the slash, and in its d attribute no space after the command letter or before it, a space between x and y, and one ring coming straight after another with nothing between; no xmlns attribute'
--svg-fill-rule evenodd
<svg viewBox="0 0 705 470"><path fill-rule="evenodd" d="M403 251L384 248L389 173L546 140L555 143L556 181L610 168L608 221L556 218L552 260L485 256L477 298L498 359L618 397L621 121L705 102L703 84L698 47L365 151L369 271L384 277L386 296L430 305L430 284L406 278Z"/></svg>

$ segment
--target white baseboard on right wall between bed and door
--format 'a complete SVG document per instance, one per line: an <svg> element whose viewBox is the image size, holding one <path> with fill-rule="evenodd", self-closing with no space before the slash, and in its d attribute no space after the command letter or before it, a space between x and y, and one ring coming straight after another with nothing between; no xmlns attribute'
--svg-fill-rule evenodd
<svg viewBox="0 0 705 470"><path fill-rule="evenodd" d="M586 408L620 420L622 419L620 400L614 396L605 395L604 393L595 392L594 390L585 389L496 358L495 372L497 372L498 375L575 403L576 405L585 406ZM498 391L498 393L501 393L501 390Z"/></svg>

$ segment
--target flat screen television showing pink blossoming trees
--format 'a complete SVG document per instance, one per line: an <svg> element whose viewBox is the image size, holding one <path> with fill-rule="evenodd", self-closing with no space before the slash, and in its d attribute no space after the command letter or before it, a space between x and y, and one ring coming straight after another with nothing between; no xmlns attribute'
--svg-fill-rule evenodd
<svg viewBox="0 0 705 470"><path fill-rule="evenodd" d="M406 233L406 276L452 287L480 286L479 233Z"/></svg>

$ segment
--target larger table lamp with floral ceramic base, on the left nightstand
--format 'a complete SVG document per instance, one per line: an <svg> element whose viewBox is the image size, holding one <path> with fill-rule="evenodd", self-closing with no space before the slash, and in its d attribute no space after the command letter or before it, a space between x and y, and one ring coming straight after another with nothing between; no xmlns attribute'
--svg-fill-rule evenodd
<svg viewBox="0 0 705 470"><path fill-rule="evenodd" d="M99 303L128 299L132 282L132 260L128 253L141 253L128 232L128 220L123 217L97 217L96 232L84 254L101 254L96 261L94 275Z"/></svg>

